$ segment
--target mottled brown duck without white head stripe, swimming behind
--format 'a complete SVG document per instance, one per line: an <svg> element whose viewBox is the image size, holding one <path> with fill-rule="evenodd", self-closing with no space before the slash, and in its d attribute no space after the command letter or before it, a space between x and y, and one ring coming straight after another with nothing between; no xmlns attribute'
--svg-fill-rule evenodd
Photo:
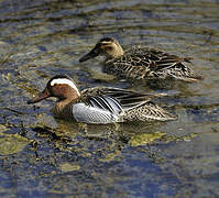
<svg viewBox="0 0 219 198"><path fill-rule="evenodd" d="M103 37L79 62L86 62L98 55L106 56L103 70L128 79L165 79L198 81L201 76L195 74L190 57L178 57L158 50L134 46L124 52L116 38Z"/></svg>

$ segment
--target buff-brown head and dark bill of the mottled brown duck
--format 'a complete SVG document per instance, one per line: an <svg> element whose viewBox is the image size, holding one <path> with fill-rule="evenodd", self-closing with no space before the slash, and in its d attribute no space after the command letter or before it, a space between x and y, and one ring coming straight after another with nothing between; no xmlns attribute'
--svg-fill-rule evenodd
<svg viewBox="0 0 219 198"><path fill-rule="evenodd" d="M117 40L112 37L103 37L88 54L83 56L79 62L86 62L87 59L94 58L99 55L106 56L107 58L114 58L122 56L123 54L124 51Z"/></svg>

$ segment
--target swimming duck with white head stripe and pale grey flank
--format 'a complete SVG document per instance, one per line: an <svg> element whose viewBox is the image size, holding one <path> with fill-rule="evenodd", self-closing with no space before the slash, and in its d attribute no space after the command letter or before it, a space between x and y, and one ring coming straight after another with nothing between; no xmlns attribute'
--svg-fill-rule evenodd
<svg viewBox="0 0 219 198"><path fill-rule="evenodd" d="M95 87L79 91L70 77L57 75L51 78L45 89L28 103L55 97L58 99L52 110L55 117L83 123L175 120L175 116L151 101L163 95L145 95L107 87Z"/></svg>

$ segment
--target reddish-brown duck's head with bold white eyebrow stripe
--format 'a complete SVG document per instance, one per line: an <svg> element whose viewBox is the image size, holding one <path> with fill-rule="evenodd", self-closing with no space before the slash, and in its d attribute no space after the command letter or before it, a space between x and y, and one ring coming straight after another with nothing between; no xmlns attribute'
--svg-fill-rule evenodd
<svg viewBox="0 0 219 198"><path fill-rule="evenodd" d="M28 101L28 103L40 102L50 97L55 97L59 101L74 100L80 96L75 81L67 75L57 75L51 78L45 89L36 97Z"/></svg>

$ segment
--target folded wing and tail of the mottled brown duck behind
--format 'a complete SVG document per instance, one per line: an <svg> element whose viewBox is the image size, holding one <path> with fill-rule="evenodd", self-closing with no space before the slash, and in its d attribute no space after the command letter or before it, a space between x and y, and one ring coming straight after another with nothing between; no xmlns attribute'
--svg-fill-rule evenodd
<svg viewBox="0 0 219 198"><path fill-rule="evenodd" d="M193 68L191 57L179 57L154 48L138 48L129 57L129 64L144 67L145 72L160 78L173 77L185 81L202 79Z"/></svg>

